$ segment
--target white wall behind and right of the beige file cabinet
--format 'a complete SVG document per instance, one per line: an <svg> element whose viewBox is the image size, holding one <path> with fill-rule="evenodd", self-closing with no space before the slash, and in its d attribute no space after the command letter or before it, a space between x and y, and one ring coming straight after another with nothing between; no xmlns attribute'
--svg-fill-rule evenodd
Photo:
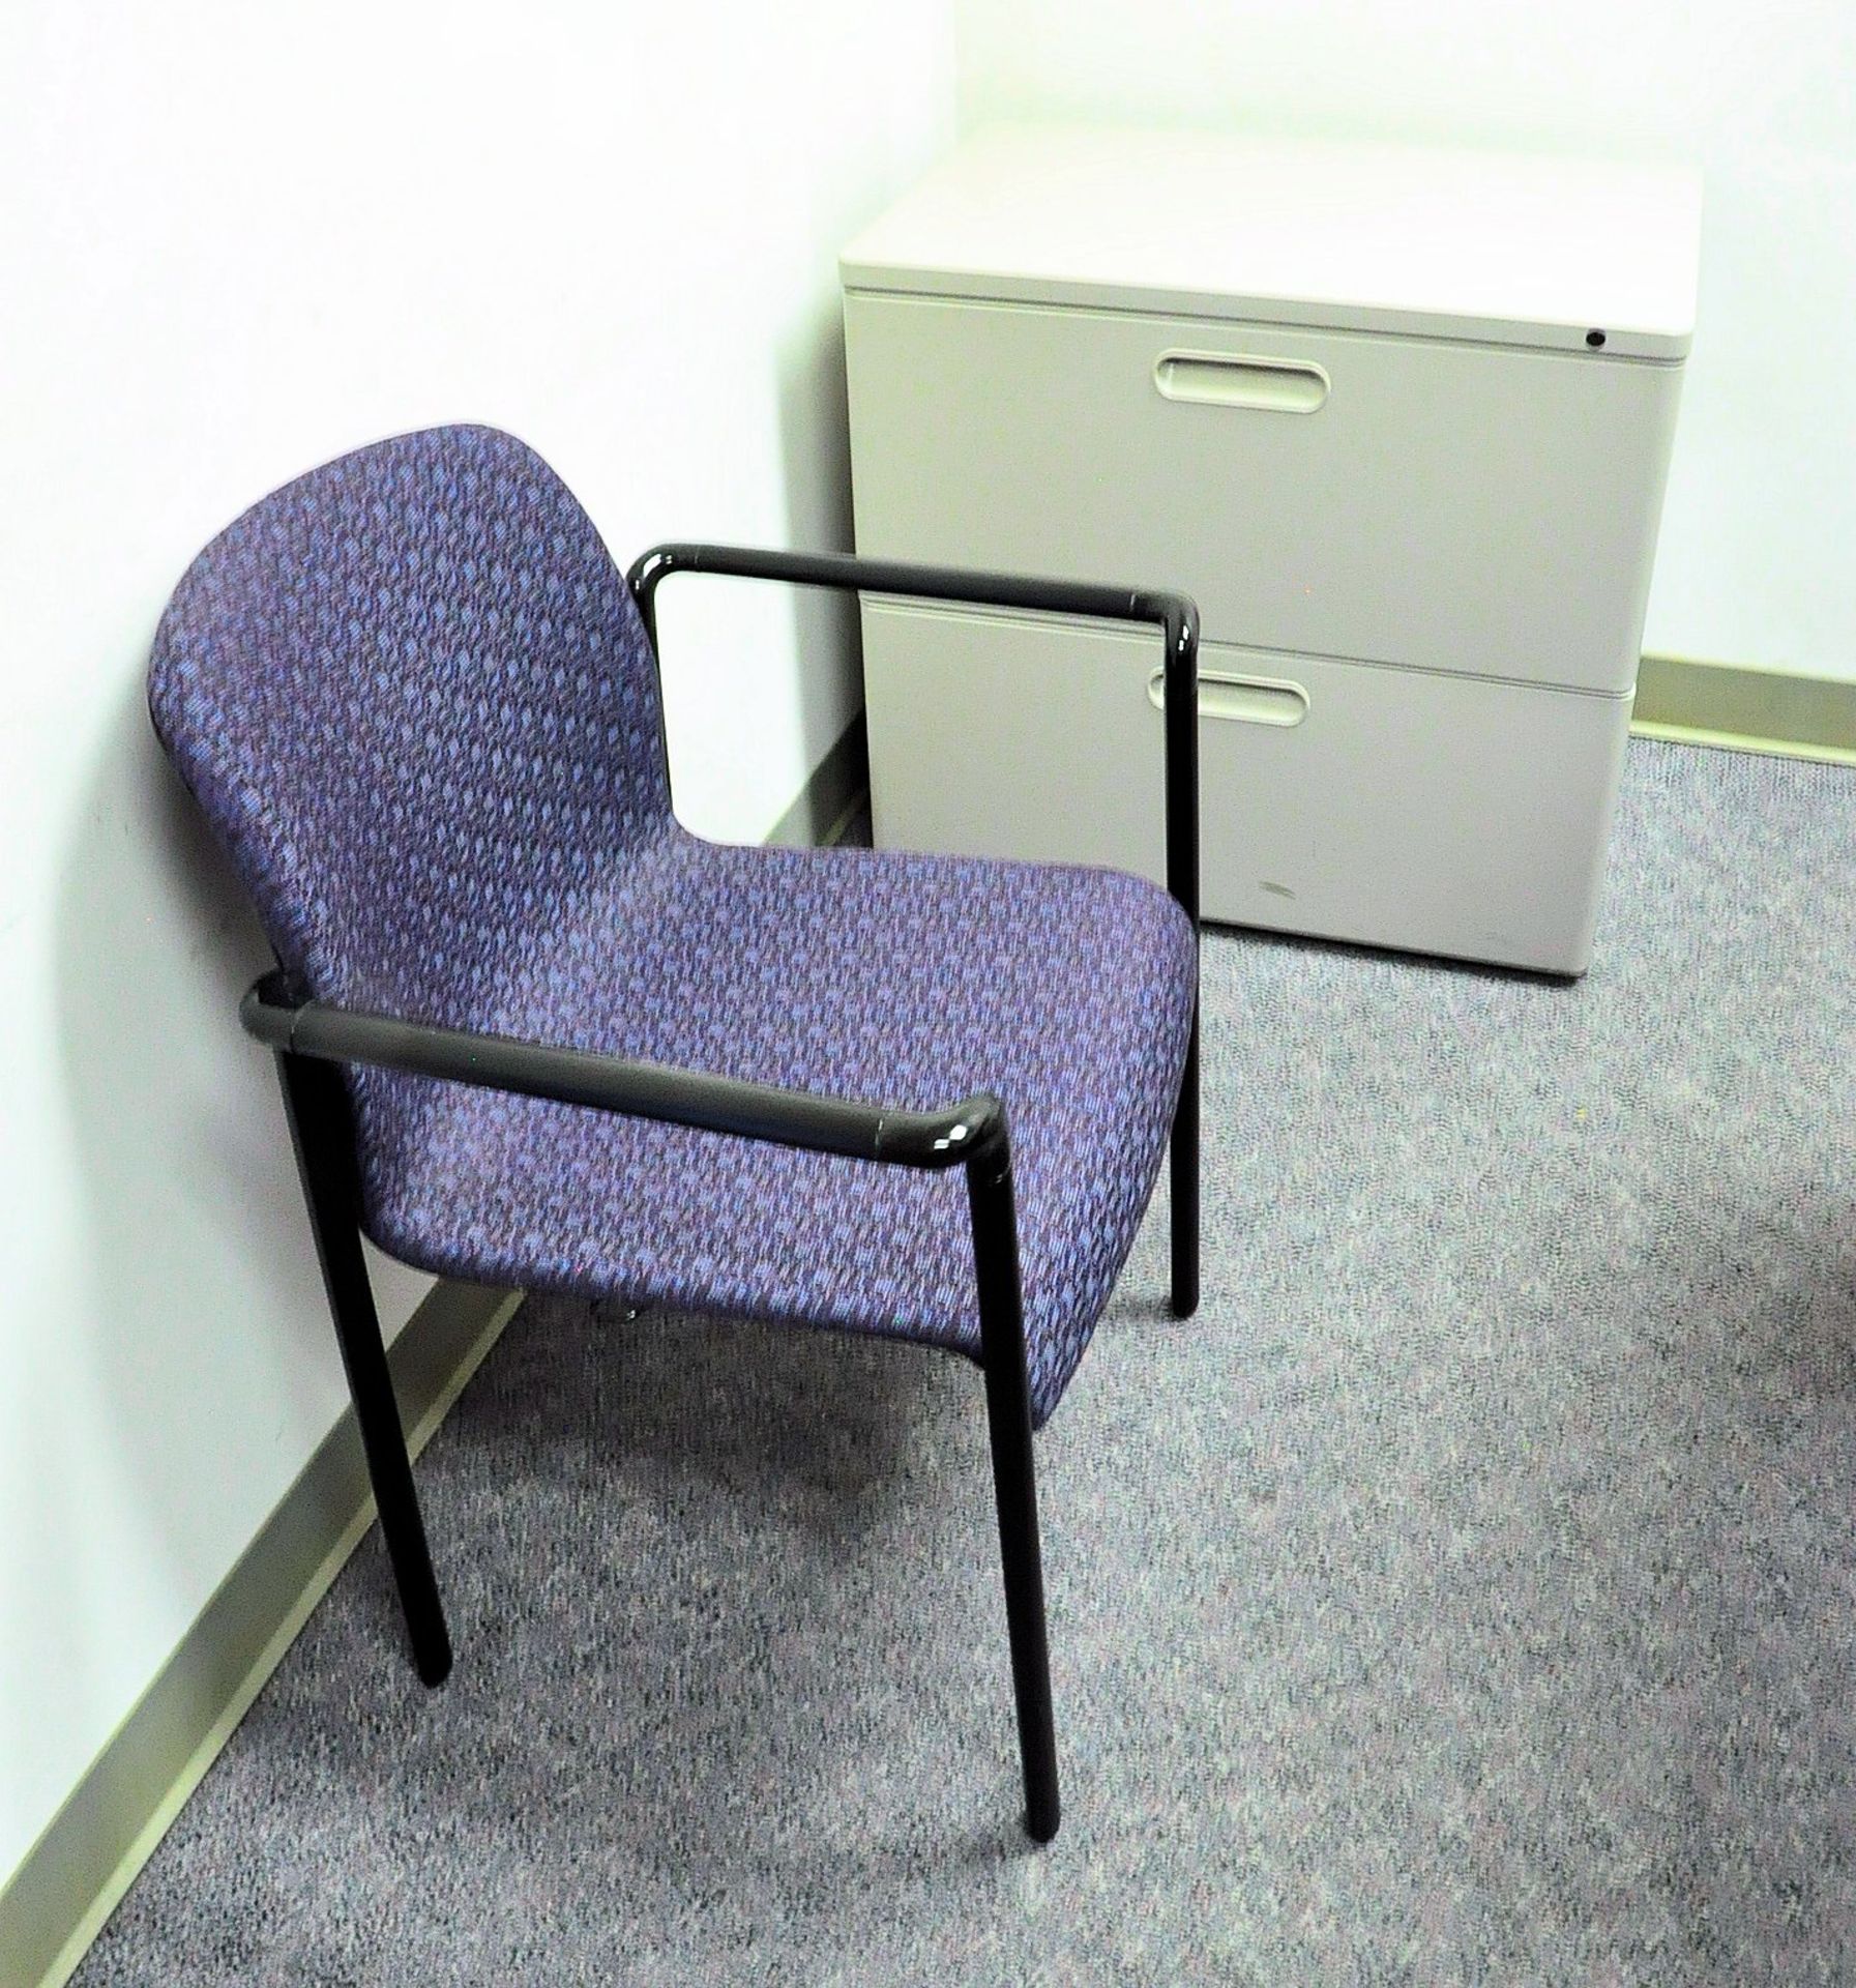
<svg viewBox="0 0 1856 1988"><path fill-rule="evenodd" d="M1645 648L1856 680L1846 0L956 0L994 117L1699 161L1701 308Z"/></svg>

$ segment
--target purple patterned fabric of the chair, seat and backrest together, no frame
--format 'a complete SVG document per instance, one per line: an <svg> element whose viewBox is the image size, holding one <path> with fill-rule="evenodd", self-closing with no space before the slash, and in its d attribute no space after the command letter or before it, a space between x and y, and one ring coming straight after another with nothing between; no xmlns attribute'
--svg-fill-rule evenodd
<svg viewBox="0 0 1856 1988"><path fill-rule="evenodd" d="M1196 948L1164 893L686 833L624 577L493 429L250 509L177 588L149 706L298 994L900 1107L998 1091L1045 1421L1178 1091ZM958 1171L376 1070L350 1089L364 1225L407 1262L978 1354Z"/></svg>

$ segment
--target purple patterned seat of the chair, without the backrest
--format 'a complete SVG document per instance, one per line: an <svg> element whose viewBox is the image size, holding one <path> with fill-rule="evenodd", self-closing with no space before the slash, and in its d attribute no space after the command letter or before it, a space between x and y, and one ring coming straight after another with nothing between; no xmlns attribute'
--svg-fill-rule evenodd
<svg viewBox="0 0 1856 1988"><path fill-rule="evenodd" d="M666 823L537 907L475 1012L421 1016L938 1109L996 1091L1031 1415L1057 1406L1153 1191L1196 944L1117 871L737 849ZM421 1268L980 1350L966 1183L358 1072L364 1221Z"/></svg>

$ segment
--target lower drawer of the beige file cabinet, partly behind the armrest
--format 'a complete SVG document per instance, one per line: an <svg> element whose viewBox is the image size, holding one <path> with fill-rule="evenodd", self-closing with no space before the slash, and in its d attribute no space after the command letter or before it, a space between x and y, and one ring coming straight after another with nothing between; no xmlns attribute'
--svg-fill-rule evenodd
<svg viewBox="0 0 1856 1988"><path fill-rule="evenodd" d="M866 598L876 843L1164 879L1151 630ZM1208 918L1584 972L1629 698L1200 652Z"/></svg>

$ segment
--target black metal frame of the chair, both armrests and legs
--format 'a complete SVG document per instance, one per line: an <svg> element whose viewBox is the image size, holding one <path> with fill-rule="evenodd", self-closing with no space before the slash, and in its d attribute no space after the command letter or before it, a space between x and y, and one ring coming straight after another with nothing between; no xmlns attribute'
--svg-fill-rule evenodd
<svg viewBox="0 0 1856 1988"><path fill-rule="evenodd" d="M1198 610L1182 594L1085 586L1069 580L962 573L841 553L769 553L719 545L660 545L626 575L658 650L656 592L672 573L719 573L841 592L904 594L976 606L1029 608L1093 620L1155 622L1164 630L1166 887L1198 930ZM360 1177L342 1064L370 1064L453 1083L552 1097L709 1131L843 1153L898 1167L966 1169L980 1294L980 1354L992 1441L1005 1624L1025 1779L1025 1829L1057 1833L1057 1741L1051 1714L1031 1400L1025 1376L1005 1107L982 1091L942 1111L886 1111L870 1103L741 1083L694 1070L584 1050L433 1028L326 1002L292 1002L282 974L266 974L240 1004L244 1028L276 1050L284 1109L296 1145L310 1229L334 1314L368 1475L387 1543L413 1662L427 1686L451 1670L411 1461L387 1372L380 1316L360 1246ZM1172 1119L1172 1310L1198 1304L1198 1008Z"/></svg>

